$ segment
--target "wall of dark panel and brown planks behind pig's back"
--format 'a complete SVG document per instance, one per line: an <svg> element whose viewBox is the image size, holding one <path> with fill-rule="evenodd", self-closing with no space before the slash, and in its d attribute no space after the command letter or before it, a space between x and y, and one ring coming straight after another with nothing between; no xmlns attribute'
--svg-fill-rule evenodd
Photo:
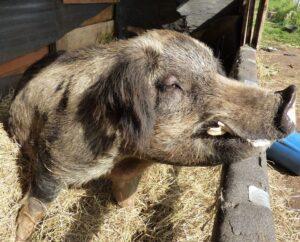
<svg viewBox="0 0 300 242"><path fill-rule="evenodd" d="M103 3L117 0L29 1L0 2L0 98L28 67L56 47L72 50L113 33L114 7Z"/></svg>

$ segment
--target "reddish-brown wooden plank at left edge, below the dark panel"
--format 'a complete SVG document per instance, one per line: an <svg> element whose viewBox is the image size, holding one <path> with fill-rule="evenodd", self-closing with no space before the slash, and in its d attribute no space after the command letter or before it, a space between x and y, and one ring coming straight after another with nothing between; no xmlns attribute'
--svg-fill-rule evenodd
<svg viewBox="0 0 300 242"><path fill-rule="evenodd" d="M42 59L49 52L48 47L43 47L38 51L18 57L14 60L0 65L0 77L23 73L29 66Z"/></svg>

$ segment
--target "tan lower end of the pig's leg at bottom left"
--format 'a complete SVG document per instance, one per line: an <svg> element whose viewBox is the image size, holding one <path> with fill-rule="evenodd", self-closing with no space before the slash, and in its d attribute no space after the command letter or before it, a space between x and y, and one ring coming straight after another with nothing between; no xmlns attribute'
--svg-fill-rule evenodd
<svg viewBox="0 0 300 242"><path fill-rule="evenodd" d="M16 225L16 242L30 241L36 224L45 214L45 205L35 198L29 198L19 211Z"/></svg>

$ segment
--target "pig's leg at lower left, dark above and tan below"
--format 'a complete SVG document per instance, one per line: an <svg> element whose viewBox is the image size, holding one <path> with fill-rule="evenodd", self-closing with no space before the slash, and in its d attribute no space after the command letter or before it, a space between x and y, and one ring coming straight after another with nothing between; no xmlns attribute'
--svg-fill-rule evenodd
<svg viewBox="0 0 300 242"><path fill-rule="evenodd" d="M31 188L23 198L23 205L17 216L16 241L30 239L36 224L42 220L47 206L56 198L59 190L60 184L50 171L45 167L36 171Z"/></svg>

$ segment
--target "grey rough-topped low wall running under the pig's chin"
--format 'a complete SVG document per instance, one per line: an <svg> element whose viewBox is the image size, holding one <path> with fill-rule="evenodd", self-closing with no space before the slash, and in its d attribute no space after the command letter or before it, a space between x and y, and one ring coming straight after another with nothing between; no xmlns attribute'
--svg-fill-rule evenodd
<svg viewBox="0 0 300 242"><path fill-rule="evenodd" d="M241 47L232 77L248 85L258 84L253 48ZM221 181L212 241L276 241L265 151L225 164Z"/></svg>

